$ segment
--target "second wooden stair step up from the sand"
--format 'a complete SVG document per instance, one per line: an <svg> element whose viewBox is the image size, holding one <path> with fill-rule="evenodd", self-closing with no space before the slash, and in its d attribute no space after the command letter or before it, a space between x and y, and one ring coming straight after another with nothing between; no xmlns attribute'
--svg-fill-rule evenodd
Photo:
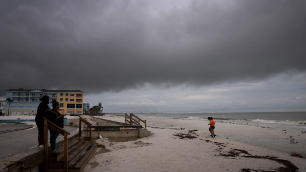
<svg viewBox="0 0 306 172"><path fill-rule="evenodd" d="M91 141L84 140L79 142L73 148L68 150L68 164L69 166L74 164L86 151L91 147ZM58 161L48 162L48 168L52 169L64 169L64 157L61 157Z"/></svg>

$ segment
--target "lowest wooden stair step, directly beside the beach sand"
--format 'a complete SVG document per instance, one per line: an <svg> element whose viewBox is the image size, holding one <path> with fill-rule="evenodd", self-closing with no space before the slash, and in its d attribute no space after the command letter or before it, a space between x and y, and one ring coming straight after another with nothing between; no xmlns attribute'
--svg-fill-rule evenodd
<svg viewBox="0 0 306 172"><path fill-rule="evenodd" d="M88 149L86 149L85 152L82 153L81 156L78 157L78 160L69 165L68 171L71 172L81 172L84 170L85 166L87 165L88 161L91 159L91 157L95 154L95 150L98 147L98 144L91 144ZM48 171L64 171L63 169L58 169L58 168L49 168Z"/></svg>

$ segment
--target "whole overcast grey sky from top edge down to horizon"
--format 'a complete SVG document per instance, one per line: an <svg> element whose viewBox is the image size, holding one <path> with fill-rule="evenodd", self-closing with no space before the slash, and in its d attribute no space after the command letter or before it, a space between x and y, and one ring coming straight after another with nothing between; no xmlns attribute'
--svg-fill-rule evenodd
<svg viewBox="0 0 306 172"><path fill-rule="evenodd" d="M305 0L1 0L0 97L78 89L107 112L305 111L305 15Z"/></svg>

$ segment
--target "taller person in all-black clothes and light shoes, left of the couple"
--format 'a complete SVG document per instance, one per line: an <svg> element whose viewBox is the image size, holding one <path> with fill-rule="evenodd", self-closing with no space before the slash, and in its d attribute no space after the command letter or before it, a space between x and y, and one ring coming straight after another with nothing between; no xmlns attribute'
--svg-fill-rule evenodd
<svg viewBox="0 0 306 172"><path fill-rule="evenodd" d="M44 148L44 119L49 115L57 115L56 112L53 112L48 104L50 103L50 98L45 95L41 98L41 103L37 108L37 115L35 117L36 126L38 128L38 147Z"/></svg>

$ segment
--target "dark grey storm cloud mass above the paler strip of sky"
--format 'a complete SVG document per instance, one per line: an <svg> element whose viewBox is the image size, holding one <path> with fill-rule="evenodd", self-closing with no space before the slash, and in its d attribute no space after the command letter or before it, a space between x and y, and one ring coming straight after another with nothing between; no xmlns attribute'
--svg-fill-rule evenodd
<svg viewBox="0 0 306 172"><path fill-rule="evenodd" d="M159 3L162 1L154 1ZM1 95L209 85L305 71L305 1L0 2Z"/></svg>

